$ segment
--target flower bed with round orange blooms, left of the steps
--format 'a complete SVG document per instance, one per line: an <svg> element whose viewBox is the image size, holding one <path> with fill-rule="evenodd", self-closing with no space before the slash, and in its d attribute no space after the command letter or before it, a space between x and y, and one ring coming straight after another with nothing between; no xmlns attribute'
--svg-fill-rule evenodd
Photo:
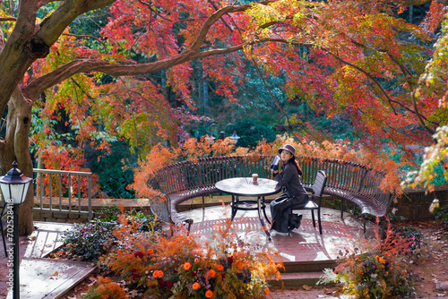
<svg viewBox="0 0 448 299"><path fill-rule="evenodd" d="M99 263L145 298L263 298L267 278L280 278L276 253L238 240L230 221L216 227L211 242L182 230L172 236L138 231L123 216L119 222L118 243Z"/></svg>

